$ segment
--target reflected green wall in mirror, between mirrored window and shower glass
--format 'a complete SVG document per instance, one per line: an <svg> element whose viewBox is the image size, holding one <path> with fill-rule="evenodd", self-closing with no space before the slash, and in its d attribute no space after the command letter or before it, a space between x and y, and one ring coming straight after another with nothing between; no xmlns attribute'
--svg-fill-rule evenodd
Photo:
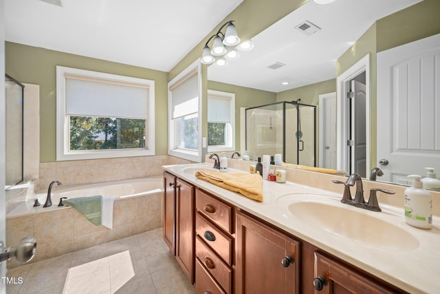
<svg viewBox="0 0 440 294"><path fill-rule="evenodd" d="M208 81L208 89L235 94L235 149L240 146L240 109L276 102L276 93L248 87Z"/></svg>

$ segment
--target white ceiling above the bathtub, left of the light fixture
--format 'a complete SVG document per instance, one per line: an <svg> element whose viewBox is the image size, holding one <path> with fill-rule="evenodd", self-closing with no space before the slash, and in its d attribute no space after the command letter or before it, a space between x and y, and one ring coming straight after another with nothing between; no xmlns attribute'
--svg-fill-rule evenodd
<svg viewBox="0 0 440 294"><path fill-rule="evenodd" d="M242 1L5 0L5 39L169 72Z"/></svg>

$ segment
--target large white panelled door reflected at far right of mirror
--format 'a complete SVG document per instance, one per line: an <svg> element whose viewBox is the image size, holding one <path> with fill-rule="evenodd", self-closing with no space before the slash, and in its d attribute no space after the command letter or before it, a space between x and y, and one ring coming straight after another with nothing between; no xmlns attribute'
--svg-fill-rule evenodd
<svg viewBox="0 0 440 294"><path fill-rule="evenodd" d="M391 182L440 173L440 34L377 54L377 160Z"/></svg>

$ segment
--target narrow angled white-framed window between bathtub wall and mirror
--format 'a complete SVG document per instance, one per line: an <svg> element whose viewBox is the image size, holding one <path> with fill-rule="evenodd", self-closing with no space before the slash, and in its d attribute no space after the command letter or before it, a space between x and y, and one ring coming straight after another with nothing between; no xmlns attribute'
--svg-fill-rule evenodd
<svg viewBox="0 0 440 294"><path fill-rule="evenodd" d="M201 162L199 60L168 83L168 154Z"/></svg>

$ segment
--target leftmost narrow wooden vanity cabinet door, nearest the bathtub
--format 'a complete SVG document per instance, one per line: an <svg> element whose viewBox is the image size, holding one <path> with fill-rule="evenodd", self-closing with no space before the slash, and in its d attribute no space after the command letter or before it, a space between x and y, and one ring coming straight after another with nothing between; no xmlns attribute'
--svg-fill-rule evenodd
<svg viewBox="0 0 440 294"><path fill-rule="evenodd" d="M164 241L175 255L176 177L164 172Z"/></svg>

